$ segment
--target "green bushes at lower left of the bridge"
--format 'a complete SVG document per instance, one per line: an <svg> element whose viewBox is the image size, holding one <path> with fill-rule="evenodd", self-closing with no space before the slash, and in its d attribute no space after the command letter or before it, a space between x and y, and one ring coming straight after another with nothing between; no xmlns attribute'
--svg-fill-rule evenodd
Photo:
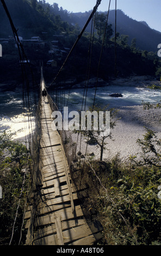
<svg viewBox="0 0 161 256"><path fill-rule="evenodd" d="M0 199L0 245L8 245L10 242L19 199L20 207L11 244L17 245L20 240L29 182L29 173L26 173L29 168L29 152L22 143L13 141L12 136L13 134L8 132L0 134L0 185L3 196ZM26 182L22 190L24 179Z"/></svg>

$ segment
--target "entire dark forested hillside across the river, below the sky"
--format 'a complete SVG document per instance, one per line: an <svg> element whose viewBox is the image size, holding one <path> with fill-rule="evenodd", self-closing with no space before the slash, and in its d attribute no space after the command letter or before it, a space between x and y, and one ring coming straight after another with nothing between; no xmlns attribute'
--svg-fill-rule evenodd
<svg viewBox="0 0 161 256"><path fill-rule="evenodd" d="M85 13L73 14L59 8L57 3L50 5L46 1L36 0L6 0L9 13L13 19L18 35L24 40L30 40L33 36L39 36L44 44L44 48L26 47L31 64L34 68L40 65L40 61L46 65L47 60L53 58L57 60L55 54L49 54L52 50L55 39L54 36L62 36L63 41L58 42L58 50L63 56L57 60L57 66L53 69L46 68L45 74L50 81L57 74L60 66L67 56L67 52L62 53L64 48L71 49L76 41L82 27L88 20L91 11ZM115 51L115 23L114 10L109 13L109 22L104 40L103 54L100 63L99 76L104 80L109 77L129 76L129 75L157 75L160 78L160 59L157 56L157 44L161 42L160 33L153 31L144 22L138 22L130 19L117 10L117 34L116 34L116 51ZM98 60L100 58L104 28L106 26L107 13L97 13L94 38L92 40L90 76L96 76L98 69ZM7 40L13 35L8 17L0 5L0 38ZM75 77L77 81L83 80L88 65L88 53L90 42L89 27L80 38L75 51L73 51L68 65L65 67L66 78ZM160 39L160 41L159 41ZM14 46L3 44L3 58L0 65L4 75L10 77L6 71L6 66L10 66L11 75L14 76L18 52ZM55 46L54 46L55 47ZM16 55L17 54L17 55ZM58 56L58 54L57 54ZM3 63L2 63L3 60ZM9 63L8 63L9 62ZM116 69L115 69L116 68ZM38 70L37 69L37 70ZM115 73L116 71L116 73ZM39 77L39 74L38 74Z"/></svg>

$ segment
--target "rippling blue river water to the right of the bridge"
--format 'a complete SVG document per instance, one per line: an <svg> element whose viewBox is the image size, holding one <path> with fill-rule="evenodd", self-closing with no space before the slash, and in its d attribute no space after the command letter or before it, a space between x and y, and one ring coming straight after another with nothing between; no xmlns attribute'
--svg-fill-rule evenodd
<svg viewBox="0 0 161 256"><path fill-rule="evenodd" d="M110 94L121 93L123 97L111 97ZM86 109L92 106L95 88L89 88L86 99ZM65 92L66 101L68 98ZM69 96L69 111L82 109L83 89L72 89ZM123 106L136 106L144 102L156 103L161 100L161 90L136 88L132 86L107 86L98 87L95 103L101 106L120 108ZM85 100L83 100L85 102ZM85 110L86 110L85 109Z"/></svg>

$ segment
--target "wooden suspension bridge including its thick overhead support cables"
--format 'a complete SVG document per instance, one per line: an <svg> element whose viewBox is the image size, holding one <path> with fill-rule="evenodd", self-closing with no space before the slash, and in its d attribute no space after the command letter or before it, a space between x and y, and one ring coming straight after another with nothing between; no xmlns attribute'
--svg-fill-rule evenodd
<svg viewBox="0 0 161 256"><path fill-rule="evenodd" d="M1 0L1 2L15 36L20 60L27 59L7 6L4 0ZM51 85L63 70L73 48L75 48L100 3L101 0L97 0L88 21L78 35L78 39ZM109 10L107 21L108 14ZM28 97L26 108L30 112L30 86L23 61L21 61L21 68L23 80L25 81L23 88L26 90L25 93ZM29 197L28 208L24 212L24 221L26 223L24 229L27 234L25 245L94 245L102 238L102 227L100 223L92 223L89 218L85 217L85 209L82 202L85 197L88 197L88 185L86 182L79 180L78 169L71 170L70 168L72 157L74 156L74 146L67 132L60 132L55 129L52 112L58 110L58 107L52 101L48 92L45 99L42 97L44 89L47 92L41 67L40 97L35 120L36 129L32 143L29 142L29 145L32 144L32 149L30 149L32 154L32 186L30 188L31 196ZM65 143L67 136L69 136L70 143Z"/></svg>

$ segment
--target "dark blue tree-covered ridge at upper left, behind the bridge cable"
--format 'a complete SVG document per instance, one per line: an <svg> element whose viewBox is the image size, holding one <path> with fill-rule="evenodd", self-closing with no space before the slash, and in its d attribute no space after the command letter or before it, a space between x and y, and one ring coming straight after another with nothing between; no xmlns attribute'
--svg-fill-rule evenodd
<svg viewBox="0 0 161 256"><path fill-rule="evenodd" d="M47 32L51 36L72 29L72 26L61 21L60 16L54 14L54 8L45 1L6 0L5 3L18 34L24 39L35 34L40 36L42 32ZM11 34L8 17L0 5L0 35L5 37Z"/></svg>

